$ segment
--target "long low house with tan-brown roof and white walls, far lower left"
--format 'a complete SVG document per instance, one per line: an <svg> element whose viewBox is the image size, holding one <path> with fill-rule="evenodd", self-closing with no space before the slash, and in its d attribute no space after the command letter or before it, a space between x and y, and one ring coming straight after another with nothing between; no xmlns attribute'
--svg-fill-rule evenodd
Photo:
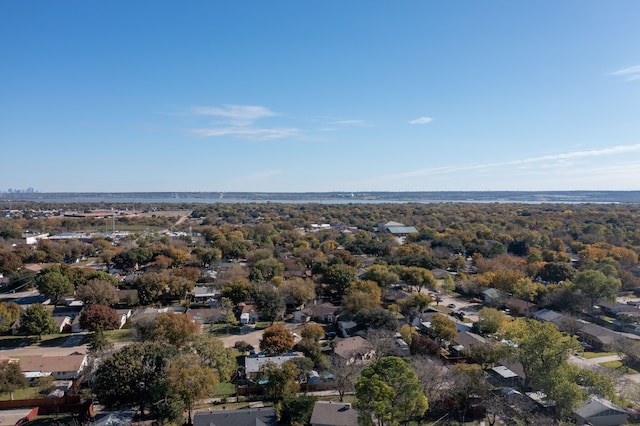
<svg viewBox="0 0 640 426"><path fill-rule="evenodd" d="M84 354L67 356L24 357L20 360L20 370L28 378L53 376L56 380L77 379L87 366Z"/></svg>

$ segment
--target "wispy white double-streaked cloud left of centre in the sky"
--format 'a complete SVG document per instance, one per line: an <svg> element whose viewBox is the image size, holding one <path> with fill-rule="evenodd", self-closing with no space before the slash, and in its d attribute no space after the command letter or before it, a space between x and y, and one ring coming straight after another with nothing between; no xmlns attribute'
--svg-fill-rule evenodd
<svg viewBox="0 0 640 426"><path fill-rule="evenodd" d="M256 120L279 115L263 106L197 106L190 108L189 111L191 115L218 118L211 126L189 129L189 133L194 136L207 138L229 136L259 141L282 139L300 134L299 129L292 127L255 126L254 121Z"/></svg>

